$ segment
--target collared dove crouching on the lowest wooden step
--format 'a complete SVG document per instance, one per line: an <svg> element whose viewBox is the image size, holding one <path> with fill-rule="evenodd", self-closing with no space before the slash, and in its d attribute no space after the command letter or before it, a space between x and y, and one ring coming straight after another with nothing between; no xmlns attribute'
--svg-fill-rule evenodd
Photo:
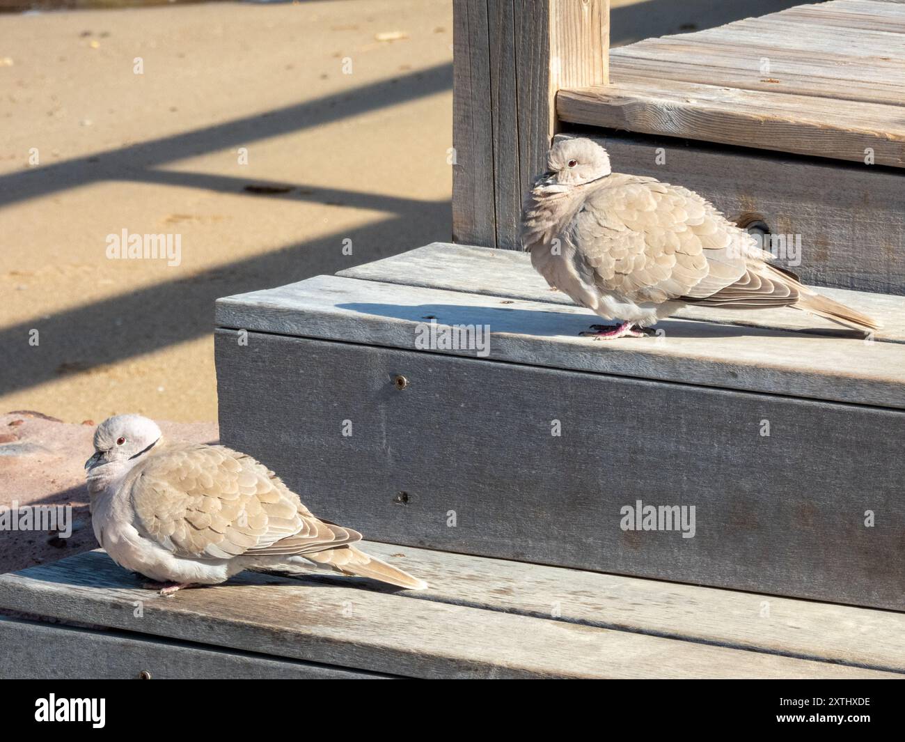
<svg viewBox="0 0 905 742"><path fill-rule="evenodd" d="M412 590L427 583L359 551L361 534L312 516L267 467L225 446L168 441L153 420L117 415L85 462L98 543L163 594L235 573L310 563ZM306 565L305 569L302 565Z"/></svg>

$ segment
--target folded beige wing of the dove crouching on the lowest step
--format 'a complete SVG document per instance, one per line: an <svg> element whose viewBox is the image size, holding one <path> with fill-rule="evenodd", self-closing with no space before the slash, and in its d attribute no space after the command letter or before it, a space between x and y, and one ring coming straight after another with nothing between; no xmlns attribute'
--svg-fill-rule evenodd
<svg viewBox="0 0 905 742"><path fill-rule="evenodd" d="M308 554L361 539L312 516L267 467L223 446L167 445L129 479L138 531L177 556Z"/></svg>

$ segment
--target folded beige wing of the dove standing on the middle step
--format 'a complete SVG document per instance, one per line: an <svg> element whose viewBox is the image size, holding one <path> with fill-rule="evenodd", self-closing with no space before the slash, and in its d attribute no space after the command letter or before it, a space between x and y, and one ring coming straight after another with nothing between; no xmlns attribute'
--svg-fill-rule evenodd
<svg viewBox="0 0 905 742"><path fill-rule="evenodd" d="M579 273L635 302L767 306L797 298L781 276L763 275L769 254L753 237L697 193L655 178L603 178L565 236Z"/></svg>

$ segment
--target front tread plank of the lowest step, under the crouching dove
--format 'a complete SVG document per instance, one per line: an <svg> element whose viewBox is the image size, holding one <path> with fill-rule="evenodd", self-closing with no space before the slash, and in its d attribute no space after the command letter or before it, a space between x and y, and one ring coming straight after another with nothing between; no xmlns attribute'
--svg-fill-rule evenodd
<svg viewBox="0 0 905 742"><path fill-rule="evenodd" d="M243 574L172 599L149 598L134 585L106 554L91 552L3 575L0 605L188 641L209 641L215 631L227 647L416 677L900 677L377 593L335 578ZM132 616L137 600L140 620Z"/></svg>

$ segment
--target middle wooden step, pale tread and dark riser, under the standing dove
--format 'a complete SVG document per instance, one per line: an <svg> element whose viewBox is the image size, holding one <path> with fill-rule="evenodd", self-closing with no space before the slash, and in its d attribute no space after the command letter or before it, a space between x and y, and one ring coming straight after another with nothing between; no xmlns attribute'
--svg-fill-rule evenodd
<svg viewBox="0 0 905 742"><path fill-rule="evenodd" d="M887 329L699 308L595 342L526 255L425 246L219 300L221 437L377 540L903 610L902 299L827 293ZM488 352L419 349L432 322ZM629 529L639 501L696 534Z"/></svg>

